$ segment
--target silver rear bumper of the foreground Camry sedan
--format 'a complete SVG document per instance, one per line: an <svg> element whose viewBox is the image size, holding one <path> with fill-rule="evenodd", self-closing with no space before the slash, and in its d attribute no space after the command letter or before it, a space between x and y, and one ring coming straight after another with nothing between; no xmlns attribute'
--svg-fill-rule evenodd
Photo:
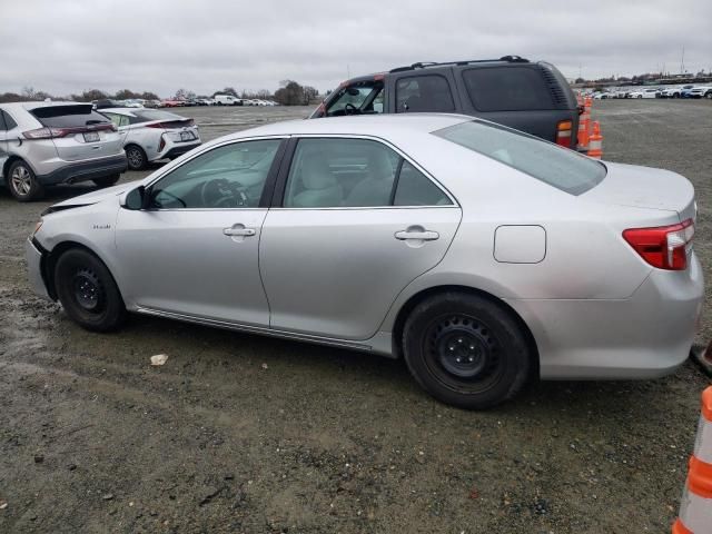
<svg viewBox="0 0 712 534"><path fill-rule="evenodd" d="M685 362L702 301L702 268L653 269L624 300L507 300L530 326L544 379L656 378Z"/></svg>

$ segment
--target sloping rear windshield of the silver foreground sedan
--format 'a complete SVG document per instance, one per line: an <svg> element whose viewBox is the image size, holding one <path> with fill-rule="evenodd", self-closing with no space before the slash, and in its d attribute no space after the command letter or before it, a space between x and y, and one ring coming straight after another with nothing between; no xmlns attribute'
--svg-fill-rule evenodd
<svg viewBox="0 0 712 534"><path fill-rule="evenodd" d="M491 122L449 126L433 135L496 159L571 195L581 195L605 178L605 166L574 150Z"/></svg>

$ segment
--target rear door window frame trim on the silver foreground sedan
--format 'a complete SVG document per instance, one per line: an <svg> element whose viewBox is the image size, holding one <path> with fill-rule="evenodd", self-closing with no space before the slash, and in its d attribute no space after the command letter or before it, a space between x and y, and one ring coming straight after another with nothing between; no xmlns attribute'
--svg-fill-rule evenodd
<svg viewBox="0 0 712 534"><path fill-rule="evenodd" d="M390 150L393 150L394 152L396 152L399 156L399 160L398 160L398 167L397 167L397 174L394 180L394 187L390 191L390 206L330 206L330 207L319 207L319 208L314 208L314 207L285 207L284 206L284 200L285 200L285 192L287 189L287 179L289 177L289 170L291 168L291 165L294 164L294 155L297 148L297 144L299 142L300 139L360 139L360 140L367 140L367 141L376 141L379 142L380 145L384 145L385 147L389 148ZM435 187L437 187L451 201L451 204L447 205L433 205L433 206L393 206L393 201L395 199L395 195L397 191L397 180L400 176L400 169L403 168L403 164L407 161L408 164L411 164L415 169L417 169L418 171L421 171ZM377 136L363 136L363 135L343 135L343 134L337 134L337 135L330 135L330 134L300 134L300 135L295 135L291 136L291 139L289 139L289 144L288 147L286 149L286 154L285 157L283 158L280 168L279 168L279 174L277 176L277 184L276 187L274 189L274 196L271 199L271 205L270 205L270 209L290 209L290 210L333 210L333 209L348 209L348 210L365 210L365 209L423 209L423 208L459 208L459 202L457 201L457 199L453 196L453 194L443 185L441 184L435 177L433 177L433 175L431 175L427 170L425 170L417 161L415 161L413 158L411 158L407 154L405 154L403 150L400 150L399 148L397 148L396 146L394 146L393 144L390 144L388 140L382 138L382 137L377 137Z"/></svg>

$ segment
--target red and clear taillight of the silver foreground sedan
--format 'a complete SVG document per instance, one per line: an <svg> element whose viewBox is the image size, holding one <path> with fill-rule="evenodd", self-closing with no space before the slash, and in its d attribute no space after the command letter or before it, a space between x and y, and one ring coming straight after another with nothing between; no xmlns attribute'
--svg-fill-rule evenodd
<svg viewBox="0 0 712 534"><path fill-rule="evenodd" d="M692 248L694 222L688 219L672 226L630 228L623 231L625 239L641 257L653 267L666 270L688 268L688 253Z"/></svg>

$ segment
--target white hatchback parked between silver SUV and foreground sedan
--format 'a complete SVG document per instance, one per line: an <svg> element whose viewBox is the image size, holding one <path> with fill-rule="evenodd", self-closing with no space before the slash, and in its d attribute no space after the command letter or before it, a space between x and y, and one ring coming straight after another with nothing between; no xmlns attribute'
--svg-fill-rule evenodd
<svg viewBox="0 0 712 534"><path fill-rule="evenodd" d="M198 127L187 119L158 109L102 109L118 128L128 166L140 170L160 159L175 159L200 145Z"/></svg>

